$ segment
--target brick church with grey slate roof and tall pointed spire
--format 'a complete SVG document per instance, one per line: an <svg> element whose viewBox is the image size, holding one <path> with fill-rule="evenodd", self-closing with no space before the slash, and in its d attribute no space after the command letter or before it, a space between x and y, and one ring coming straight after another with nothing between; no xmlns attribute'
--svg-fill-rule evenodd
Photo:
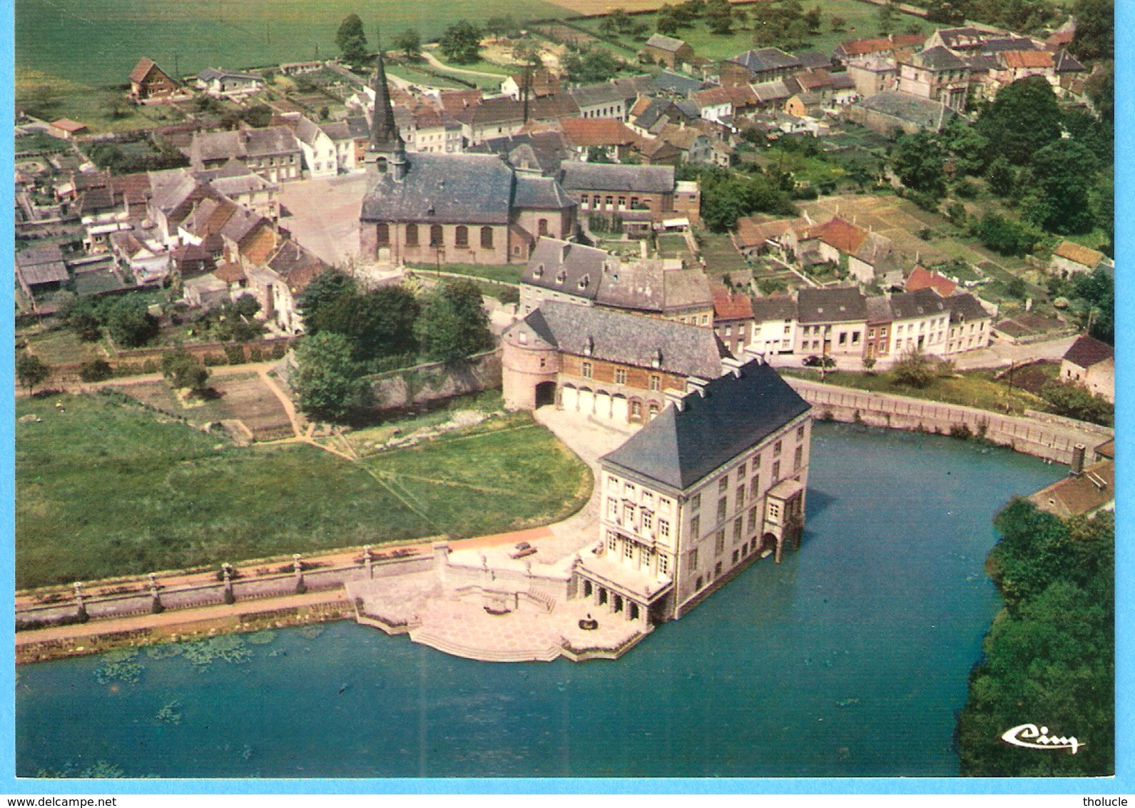
<svg viewBox="0 0 1135 808"><path fill-rule="evenodd" d="M364 162L364 261L523 263L540 236L575 232L575 202L554 178L518 174L490 154L407 154L381 54Z"/></svg>

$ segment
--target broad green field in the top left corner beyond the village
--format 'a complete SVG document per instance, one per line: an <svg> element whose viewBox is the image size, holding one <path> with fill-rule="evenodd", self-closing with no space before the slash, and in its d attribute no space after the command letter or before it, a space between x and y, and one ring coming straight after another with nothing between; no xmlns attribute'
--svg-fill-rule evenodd
<svg viewBox="0 0 1135 808"><path fill-rule="evenodd" d="M368 40L376 26L389 41L417 28L436 37L461 18L481 22L511 14L518 20L562 17L568 11L539 0L379 0L361 7L353 0L19 0L15 11L17 100L32 87L51 84L61 93L59 115L99 128L136 128L135 115L160 117L153 108L109 120L102 107L114 87L128 82L143 56L169 73L195 75L205 67L241 69L338 53L335 32L348 14L363 17ZM91 120L87 120L91 119Z"/></svg>

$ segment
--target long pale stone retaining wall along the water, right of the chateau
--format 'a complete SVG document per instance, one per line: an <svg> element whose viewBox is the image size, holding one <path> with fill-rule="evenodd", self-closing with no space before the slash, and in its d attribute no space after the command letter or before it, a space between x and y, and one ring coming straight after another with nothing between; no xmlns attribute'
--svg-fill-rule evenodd
<svg viewBox="0 0 1135 808"><path fill-rule="evenodd" d="M813 405L816 418L943 435L968 430L994 444L1058 463L1071 463L1076 444L1091 448L1113 434L1103 427L1071 419L1054 422L1050 416L1041 420L1002 415L976 407L868 393L805 379L785 377L785 381Z"/></svg>

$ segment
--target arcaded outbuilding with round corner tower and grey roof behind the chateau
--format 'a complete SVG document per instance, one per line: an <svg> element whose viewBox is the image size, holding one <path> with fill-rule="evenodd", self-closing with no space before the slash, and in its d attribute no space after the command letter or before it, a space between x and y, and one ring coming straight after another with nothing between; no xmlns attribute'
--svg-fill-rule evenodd
<svg viewBox="0 0 1135 808"><path fill-rule="evenodd" d="M667 390L716 378L724 353L708 328L563 301L541 303L502 344L506 407L555 404L616 423L644 423Z"/></svg>

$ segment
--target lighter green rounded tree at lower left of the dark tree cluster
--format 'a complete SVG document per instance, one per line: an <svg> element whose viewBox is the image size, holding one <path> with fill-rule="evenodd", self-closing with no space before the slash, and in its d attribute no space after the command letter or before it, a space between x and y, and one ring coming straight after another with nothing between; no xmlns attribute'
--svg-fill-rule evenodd
<svg viewBox="0 0 1135 808"><path fill-rule="evenodd" d="M342 334L304 337L295 360L289 384L306 414L343 422L369 403L367 384L351 361L351 345Z"/></svg>

